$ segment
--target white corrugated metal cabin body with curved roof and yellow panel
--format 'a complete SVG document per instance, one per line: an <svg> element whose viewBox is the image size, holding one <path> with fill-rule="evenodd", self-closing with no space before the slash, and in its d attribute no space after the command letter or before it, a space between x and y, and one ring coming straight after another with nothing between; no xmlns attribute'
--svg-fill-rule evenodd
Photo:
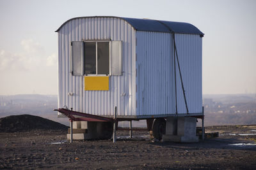
<svg viewBox="0 0 256 170"><path fill-rule="evenodd" d="M56 32L58 108L113 118L116 107L120 120L204 115L204 34L194 25L78 17Z"/></svg>

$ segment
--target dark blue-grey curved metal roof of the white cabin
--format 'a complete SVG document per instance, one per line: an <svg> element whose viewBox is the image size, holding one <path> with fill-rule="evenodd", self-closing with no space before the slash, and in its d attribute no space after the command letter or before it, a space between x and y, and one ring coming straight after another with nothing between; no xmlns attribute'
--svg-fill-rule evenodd
<svg viewBox="0 0 256 170"><path fill-rule="evenodd" d="M99 17L99 16L95 16ZM105 16L106 17L106 16ZM93 18L93 17L77 17L77 18ZM71 18L70 20L74 20L77 18ZM102 18L102 17L100 17ZM188 24L185 22L171 22L164 20L150 20L150 19L138 19L138 18L124 18L124 17L115 17L121 18L128 22L134 27L134 29L138 31L152 31L152 32L171 32L171 33L180 33L180 34L198 34L200 36L204 36L204 33L201 32L198 28L196 28L192 24ZM56 32L60 31L61 27L65 25L70 20L67 20L63 23Z"/></svg>

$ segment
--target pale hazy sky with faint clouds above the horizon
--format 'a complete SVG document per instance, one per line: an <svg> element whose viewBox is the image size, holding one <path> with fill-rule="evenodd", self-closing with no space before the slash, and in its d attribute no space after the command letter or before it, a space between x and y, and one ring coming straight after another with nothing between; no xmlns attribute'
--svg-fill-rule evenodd
<svg viewBox="0 0 256 170"><path fill-rule="evenodd" d="M204 32L203 94L256 93L256 1L0 0L0 95L57 94L57 33L83 16L189 22Z"/></svg>

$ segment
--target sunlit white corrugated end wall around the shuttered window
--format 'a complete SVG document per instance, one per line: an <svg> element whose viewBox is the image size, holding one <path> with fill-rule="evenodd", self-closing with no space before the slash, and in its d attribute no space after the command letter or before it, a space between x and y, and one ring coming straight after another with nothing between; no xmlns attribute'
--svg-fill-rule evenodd
<svg viewBox="0 0 256 170"><path fill-rule="evenodd" d="M84 76L70 72L70 43L87 39L121 40L123 45L123 75L110 76L109 91L85 91ZM135 95L135 30L120 18L88 17L68 21L58 31L59 94L58 107L93 115L118 116L136 114ZM68 96L68 92L74 93ZM125 93L125 96L122 94Z"/></svg>

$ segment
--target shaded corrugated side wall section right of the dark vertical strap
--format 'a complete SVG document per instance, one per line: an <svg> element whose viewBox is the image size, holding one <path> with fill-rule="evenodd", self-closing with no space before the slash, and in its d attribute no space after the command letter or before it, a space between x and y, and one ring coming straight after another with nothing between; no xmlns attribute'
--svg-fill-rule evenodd
<svg viewBox="0 0 256 170"><path fill-rule="evenodd" d="M175 34L175 42L189 113L202 113L202 38L193 34ZM179 69L177 73L178 113L186 113Z"/></svg>

